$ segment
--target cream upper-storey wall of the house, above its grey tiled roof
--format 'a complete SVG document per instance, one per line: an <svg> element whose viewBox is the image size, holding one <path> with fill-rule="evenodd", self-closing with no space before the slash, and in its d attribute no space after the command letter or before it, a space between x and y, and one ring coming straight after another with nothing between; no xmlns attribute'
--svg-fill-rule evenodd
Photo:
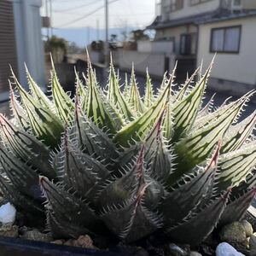
<svg viewBox="0 0 256 256"><path fill-rule="evenodd" d="M190 5L190 0L183 0L183 9L172 11L170 13L170 9L168 9L168 3L171 4L171 0L164 0L162 1L161 14L165 17L165 20L174 20L190 15L200 15L201 13L218 9L220 1L221 0L209 0L205 3ZM165 15L166 13L169 13L169 15Z"/></svg>

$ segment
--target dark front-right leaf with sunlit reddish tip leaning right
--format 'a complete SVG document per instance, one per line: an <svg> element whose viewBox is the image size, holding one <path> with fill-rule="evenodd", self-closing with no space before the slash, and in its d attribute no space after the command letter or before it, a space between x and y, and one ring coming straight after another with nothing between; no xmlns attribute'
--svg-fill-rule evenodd
<svg viewBox="0 0 256 256"><path fill-rule="evenodd" d="M201 207L206 198L211 198L219 149L220 145L207 165L196 166L191 174L180 177L172 187L172 192L162 201L160 212L164 214L167 225L177 224L190 211Z"/></svg>

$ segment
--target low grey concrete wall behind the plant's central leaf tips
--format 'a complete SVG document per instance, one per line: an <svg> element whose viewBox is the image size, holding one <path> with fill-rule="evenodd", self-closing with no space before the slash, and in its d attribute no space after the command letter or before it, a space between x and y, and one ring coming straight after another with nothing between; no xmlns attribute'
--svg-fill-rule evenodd
<svg viewBox="0 0 256 256"><path fill-rule="evenodd" d="M169 69L174 67L175 56L164 54L153 54L151 52L138 52L136 50L119 49L118 55L115 56L121 70L131 70L132 63L134 64L136 73L145 74L148 68L148 73L154 77L162 77L166 72L165 60L169 57Z"/></svg>

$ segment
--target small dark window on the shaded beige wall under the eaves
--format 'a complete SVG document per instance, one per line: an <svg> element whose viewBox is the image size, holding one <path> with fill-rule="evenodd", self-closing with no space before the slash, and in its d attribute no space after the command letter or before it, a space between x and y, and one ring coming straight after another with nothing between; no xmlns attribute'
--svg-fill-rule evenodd
<svg viewBox="0 0 256 256"><path fill-rule="evenodd" d="M180 54L195 55L196 54L196 33L183 34L180 37Z"/></svg>

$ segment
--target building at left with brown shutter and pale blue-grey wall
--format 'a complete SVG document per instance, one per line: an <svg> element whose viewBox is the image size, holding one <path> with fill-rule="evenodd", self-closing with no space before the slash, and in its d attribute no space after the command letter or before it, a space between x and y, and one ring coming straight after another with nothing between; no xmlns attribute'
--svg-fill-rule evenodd
<svg viewBox="0 0 256 256"><path fill-rule="evenodd" d="M24 63L44 85L44 45L41 36L42 0L0 1L0 102L9 98L9 64L26 86Z"/></svg>

